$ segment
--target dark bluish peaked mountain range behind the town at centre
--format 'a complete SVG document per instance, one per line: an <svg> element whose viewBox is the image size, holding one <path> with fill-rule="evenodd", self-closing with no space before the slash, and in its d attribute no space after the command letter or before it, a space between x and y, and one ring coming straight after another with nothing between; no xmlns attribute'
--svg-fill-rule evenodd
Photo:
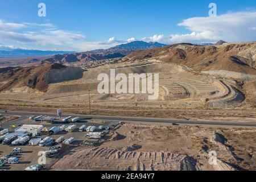
<svg viewBox="0 0 256 182"><path fill-rule="evenodd" d="M146 50L156 47L164 47L165 44L160 44L158 42L143 42L143 41L134 41L127 44L121 44L109 49L96 49L93 51L81 52L81 53L67 53L62 55L55 55L49 59L44 60L44 62L49 63L77 63L77 62L86 62L86 61L96 61L104 59L113 59L116 57L125 57L131 52L138 50Z"/></svg>

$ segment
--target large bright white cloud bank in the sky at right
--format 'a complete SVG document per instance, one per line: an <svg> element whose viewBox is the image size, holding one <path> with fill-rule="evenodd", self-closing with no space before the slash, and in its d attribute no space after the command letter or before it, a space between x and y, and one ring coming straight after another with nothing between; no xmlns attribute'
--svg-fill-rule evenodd
<svg viewBox="0 0 256 182"><path fill-rule="evenodd" d="M228 40L230 42L256 40L255 32L249 30L256 24L256 11L227 13L216 17L195 17L183 20L179 26L190 30L190 35L171 35L171 40L205 41ZM179 38L180 36L180 38Z"/></svg>

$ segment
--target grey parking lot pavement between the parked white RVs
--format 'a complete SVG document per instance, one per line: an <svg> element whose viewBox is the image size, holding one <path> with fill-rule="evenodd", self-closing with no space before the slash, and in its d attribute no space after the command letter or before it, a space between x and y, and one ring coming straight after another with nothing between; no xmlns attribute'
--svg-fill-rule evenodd
<svg viewBox="0 0 256 182"><path fill-rule="evenodd" d="M99 126L103 126L104 128L109 127L110 129L113 129L113 127L117 126L119 122L117 121L102 121L102 120L95 120L95 119L91 119L91 118L81 118L78 122L63 122L62 118L61 119L55 119L54 122L46 122L46 121L34 121L33 119L16 119L14 121L11 121L11 123L5 123L5 125L3 126L3 129L9 129L9 133L10 130L12 129L13 126L18 127L21 125L43 125L47 130L50 130L52 127L54 126L69 126L69 125L76 125L76 129L69 133L67 131L59 131L58 133L56 133L55 135L51 135L50 137L53 139L58 139L60 137L64 137L65 139L69 139L69 138L75 138L74 142L72 142L70 145L68 145L69 148L73 148L73 147L77 147L77 146L81 146L84 145L84 142L86 140L90 140L88 138L86 138L86 134L89 132L80 132L79 128L82 125L86 125L86 127L88 126L95 126L97 129L94 132L102 132L104 130L99 130L98 127ZM106 131L105 131L106 132ZM35 138L46 138L48 137L47 134L43 134L40 136L36 136ZM96 140L96 139L94 139ZM55 143L56 145L56 143ZM56 160L58 158L60 158L61 156L65 155L64 153L68 152L68 148L67 145L63 145L60 144L59 146L63 147L65 146L65 150L60 150L61 152L59 152L58 154L56 154L55 156L53 156L52 158L47 158L46 162L47 165L44 166L45 169L48 169L48 167L51 166L51 164L53 164L54 162L56 162ZM40 151L47 151L49 149L49 147L39 147L39 145L37 146L28 146L28 144L24 145L24 146L12 146L12 145L3 145L0 144L0 157L5 156L5 155L9 155L11 151L13 151L13 148L15 147L20 147L22 148L23 152L22 154L18 154L15 157L19 159L19 164L5 164L4 167L0 167L1 170L11 170L11 171L16 171L16 170L24 170L26 167L30 166L30 165L35 165L38 164L38 159L40 158ZM67 149L67 150L66 150Z"/></svg>

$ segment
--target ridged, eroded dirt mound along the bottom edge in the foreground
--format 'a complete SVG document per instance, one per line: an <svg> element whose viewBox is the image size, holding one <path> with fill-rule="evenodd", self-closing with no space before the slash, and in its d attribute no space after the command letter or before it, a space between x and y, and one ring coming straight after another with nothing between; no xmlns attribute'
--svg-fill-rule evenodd
<svg viewBox="0 0 256 182"><path fill-rule="evenodd" d="M102 161L104 163L102 163ZM53 170L196 171L197 160L184 154L124 151L123 148L79 148L52 166Z"/></svg>

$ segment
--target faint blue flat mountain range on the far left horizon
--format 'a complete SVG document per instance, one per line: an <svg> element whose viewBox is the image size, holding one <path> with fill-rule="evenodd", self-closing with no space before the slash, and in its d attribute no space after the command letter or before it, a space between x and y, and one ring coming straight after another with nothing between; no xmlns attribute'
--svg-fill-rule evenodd
<svg viewBox="0 0 256 182"><path fill-rule="evenodd" d="M0 57L34 57L34 56L48 56L63 53L73 53L69 51L41 51L41 50L30 50L30 49L9 49L1 50Z"/></svg>

